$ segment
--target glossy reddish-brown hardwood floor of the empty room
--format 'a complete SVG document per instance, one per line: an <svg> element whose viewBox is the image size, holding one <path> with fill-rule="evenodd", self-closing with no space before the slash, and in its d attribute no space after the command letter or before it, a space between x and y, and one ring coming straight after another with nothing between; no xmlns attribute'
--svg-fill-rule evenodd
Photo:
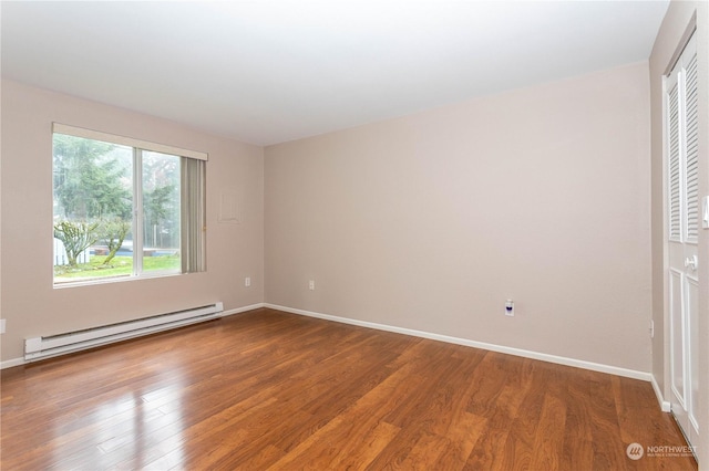
<svg viewBox="0 0 709 471"><path fill-rule="evenodd" d="M3 470L697 469L648 383L266 308L1 388Z"/></svg>

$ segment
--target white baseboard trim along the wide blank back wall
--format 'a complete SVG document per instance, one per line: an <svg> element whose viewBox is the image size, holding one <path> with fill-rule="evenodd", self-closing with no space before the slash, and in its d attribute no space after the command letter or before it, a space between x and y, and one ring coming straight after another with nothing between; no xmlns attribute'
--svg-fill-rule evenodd
<svg viewBox="0 0 709 471"><path fill-rule="evenodd" d="M308 317L317 317L317 318L322 318L322 320L326 320L326 321L339 322L339 323L342 323L342 324L357 325L357 326L360 326L360 327L369 327L369 328L374 328L374 329L378 329L378 331L393 332L393 333L397 333L397 334L411 335L413 337L429 338L429 339L432 339L432 341L440 341L440 342L445 342L445 343L449 343L449 344L464 345L464 346L467 346L467 347L482 348L482 349L485 349L485 350L497 352L497 353L503 353L503 354L508 354L508 355L515 355L515 356L521 356L521 357L525 357L525 358L538 359L538 360L542 360L542 362L555 363L555 364L558 364L558 365L565 365L565 366L573 366L573 367L576 367L576 368L589 369L592 371L607 373L609 375L623 376L623 377L626 377L626 378L640 379L640 380L644 380L644 381L651 381L654 379L653 375L650 373L638 371L638 370L635 370L635 369L620 368L620 367L610 366L610 365L603 365L603 364L593 363L593 362L585 362L585 360L582 360L582 359L567 358L567 357L563 357L563 356L549 355L549 354L532 352L532 350L525 350L525 349L514 348L514 347L505 347L505 346L502 346L502 345L486 344L484 342L470 341L467 338L460 338L460 337L451 337L451 336L441 335L441 334L432 334L430 332L422 332L422 331L415 331L415 329L411 329L411 328L397 327L397 326L387 325L387 324L377 324L377 323L373 323L373 322L358 321L358 320L348 318L348 317L339 317L339 316L333 316L333 315L329 315L329 314L315 313L315 312L311 312L311 311L304 311L304 310L297 310L297 308L287 307L287 306L279 306L279 305L276 305L276 304L265 303L264 306L273 308L273 310L277 310L277 311L284 311L284 312L291 313L291 314L305 315L305 316L308 316Z"/></svg>

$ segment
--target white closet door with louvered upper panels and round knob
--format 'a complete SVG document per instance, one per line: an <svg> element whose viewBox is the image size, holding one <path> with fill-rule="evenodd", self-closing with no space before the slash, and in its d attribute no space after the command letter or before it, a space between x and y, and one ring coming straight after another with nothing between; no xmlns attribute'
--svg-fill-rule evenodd
<svg viewBox="0 0 709 471"><path fill-rule="evenodd" d="M672 414L690 444L698 444L697 317L699 271L699 155L697 48L689 41L665 81L668 300Z"/></svg>

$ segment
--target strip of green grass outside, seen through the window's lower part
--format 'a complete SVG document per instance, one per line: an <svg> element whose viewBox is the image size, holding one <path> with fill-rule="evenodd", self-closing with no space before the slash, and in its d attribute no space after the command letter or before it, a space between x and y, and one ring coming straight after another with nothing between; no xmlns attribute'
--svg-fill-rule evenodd
<svg viewBox="0 0 709 471"><path fill-rule="evenodd" d="M104 255L91 257L91 263L54 266L54 282L78 281L78 279L101 279L127 276L133 273L132 257L114 257L107 265L103 264ZM144 257L143 271L179 271L179 255Z"/></svg>

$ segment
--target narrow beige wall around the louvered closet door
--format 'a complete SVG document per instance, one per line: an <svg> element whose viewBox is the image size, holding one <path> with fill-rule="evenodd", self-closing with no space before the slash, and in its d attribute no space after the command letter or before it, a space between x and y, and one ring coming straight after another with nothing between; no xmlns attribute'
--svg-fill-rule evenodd
<svg viewBox="0 0 709 471"><path fill-rule="evenodd" d="M696 20L692 17L696 15ZM650 55L651 104L651 175L653 175L653 320L656 336L653 342L653 376L665 399L670 399L669 326L667 323L666 257L664 220L664 154L662 154L662 75L684 44L691 24L697 27L699 66L699 153L700 195L709 195L709 3L706 1L672 1ZM709 234L699 232L699 430L703 439L698 449L701 469L709 469Z"/></svg>

